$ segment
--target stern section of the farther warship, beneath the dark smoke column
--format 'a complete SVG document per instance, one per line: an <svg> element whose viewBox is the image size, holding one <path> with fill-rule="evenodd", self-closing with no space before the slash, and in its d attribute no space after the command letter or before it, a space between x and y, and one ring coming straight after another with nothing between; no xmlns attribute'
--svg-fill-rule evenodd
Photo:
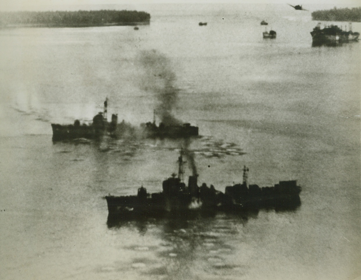
<svg viewBox="0 0 361 280"><path fill-rule="evenodd" d="M165 124L163 122L156 125L155 111L153 122L142 123L140 125L143 135L146 138L189 138L198 136L198 127L191 126L190 123Z"/></svg>

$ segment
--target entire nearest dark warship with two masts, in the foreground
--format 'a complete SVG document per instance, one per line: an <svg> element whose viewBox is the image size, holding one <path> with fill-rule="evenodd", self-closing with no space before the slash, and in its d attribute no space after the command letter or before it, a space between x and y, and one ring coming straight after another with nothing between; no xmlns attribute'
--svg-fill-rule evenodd
<svg viewBox="0 0 361 280"><path fill-rule="evenodd" d="M225 193L213 185L197 184L197 174L189 176L188 186L182 181L183 159L178 158L178 177L173 174L162 183L162 192L148 193L143 186L133 196L105 196L108 204L108 222L136 218L161 218L167 214L214 215L217 211L237 213L261 208L294 210L301 205L301 187L296 181L280 181L274 187L259 188L247 183L248 169L244 167L243 183L226 187Z"/></svg>

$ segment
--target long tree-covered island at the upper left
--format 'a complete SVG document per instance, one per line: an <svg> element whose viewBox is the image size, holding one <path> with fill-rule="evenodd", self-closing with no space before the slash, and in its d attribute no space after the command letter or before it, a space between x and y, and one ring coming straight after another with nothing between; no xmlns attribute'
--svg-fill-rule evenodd
<svg viewBox="0 0 361 280"><path fill-rule="evenodd" d="M0 26L103 26L148 24L150 14L128 10L0 12Z"/></svg>

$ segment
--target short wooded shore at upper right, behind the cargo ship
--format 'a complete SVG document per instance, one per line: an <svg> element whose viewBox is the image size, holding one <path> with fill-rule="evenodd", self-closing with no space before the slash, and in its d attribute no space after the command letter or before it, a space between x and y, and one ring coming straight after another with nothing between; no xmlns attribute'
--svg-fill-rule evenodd
<svg viewBox="0 0 361 280"><path fill-rule="evenodd" d="M314 21L353 21L361 22L361 7L358 8L343 8L336 7L331 10L322 10L312 12L312 19Z"/></svg>

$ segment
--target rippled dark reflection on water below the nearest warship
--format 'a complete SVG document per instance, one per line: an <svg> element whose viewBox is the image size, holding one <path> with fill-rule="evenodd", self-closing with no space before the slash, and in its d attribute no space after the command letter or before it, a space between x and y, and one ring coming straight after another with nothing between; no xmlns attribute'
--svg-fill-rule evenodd
<svg viewBox="0 0 361 280"><path fill-rule="evenodd" d="M192 279L199 273L195 269L204 271L204 276L213 277L244 273L244 264L232 256L239 254L236 244L245 242L243 231L248 220L257 219L257 215L258 211L239 215L217 214L214 217L178 215L161 220L139 219L113 224L108 220L108 227L119 234L126 229L136 229L144 240L152 239L151 236L159 240L158 245L145 242L123 247L137 253L131 267L142 275ZM160 261L154 261L153 255Z"/></svg>

